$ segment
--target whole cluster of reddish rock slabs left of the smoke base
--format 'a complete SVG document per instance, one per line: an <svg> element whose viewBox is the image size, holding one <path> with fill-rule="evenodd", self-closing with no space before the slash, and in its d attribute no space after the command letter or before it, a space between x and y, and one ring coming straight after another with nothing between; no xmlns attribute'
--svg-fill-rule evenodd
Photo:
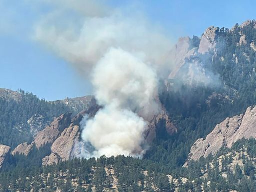
<svg viewBox="0 0 256 192"><path fill-rule="evenodd" d="M43 165L57 164L59 161L70 160L75 157L75 145L79 143L80 122L84 115L88 118L93 117L99 110L97 104L87 107L76 116L71 118L71 113L64 113L55 118L49 126L35 135L31 144L19 144L13 151L12 155L17 153L28 155L33 146L38 149L45 144L51 144L51 154L43 158Z"/></svg>

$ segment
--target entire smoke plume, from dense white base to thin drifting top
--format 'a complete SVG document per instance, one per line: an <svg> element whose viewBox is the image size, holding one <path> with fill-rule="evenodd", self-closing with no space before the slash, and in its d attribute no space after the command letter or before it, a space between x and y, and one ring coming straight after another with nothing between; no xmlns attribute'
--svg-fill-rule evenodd
<svg viewBox="0 0 256 192"><path fill-rule="evenodd" d="M141 15L91 0L69 3L55 1L53 11L36 25L35 39L89 78L103 106L84 125L82 139L95 149L87 157L142 156L145 119L158 112L158 75L170 60L171 43ZM90 12L89 6L98 11ZM66 12L78 16L58 23Z"/></svg>

